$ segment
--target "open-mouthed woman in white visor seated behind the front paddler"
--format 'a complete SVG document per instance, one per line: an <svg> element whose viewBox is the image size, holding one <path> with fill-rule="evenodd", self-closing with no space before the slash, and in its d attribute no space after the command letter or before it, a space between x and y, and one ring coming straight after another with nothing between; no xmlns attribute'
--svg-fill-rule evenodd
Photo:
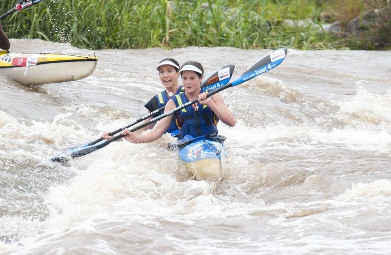
<svg viewBox="0 0 391 255"><path fill-rule="evenodd" d="M160 82L163 86L165 86L165 90L157 93L144 105L145 108L148 109L149 113L152 113L158 108L165 106L172 96L184 92L183 86L179 85L179 63L175 59L162 59L157 65L156 70L159 71ZM161 110L160 112L154 114L151 118L159 116L163 112L164 110ZM146 119L145 121L148 121L149 119ZM153 128L153 125L148 127ZM137 133L141 133L141 131L145 129L148 128L145 127ZM171 135L177 135L179 133L174 120L172 120L171 125L166 129L165 133L171 133ZM106 132L102 134L101 137L104 139L109 139L112 136L109 136L109 132Z"/></svg>

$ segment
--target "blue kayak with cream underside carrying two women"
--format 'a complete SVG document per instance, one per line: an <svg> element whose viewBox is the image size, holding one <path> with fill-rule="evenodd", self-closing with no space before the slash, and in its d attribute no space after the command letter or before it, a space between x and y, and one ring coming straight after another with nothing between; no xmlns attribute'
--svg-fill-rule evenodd
<svg viewBox="0 0 391 255"><path fill-rule="evenodd" d="M197 179L220 181L224 176L224 136L186 135L179 141L179 157Z"/></svg>

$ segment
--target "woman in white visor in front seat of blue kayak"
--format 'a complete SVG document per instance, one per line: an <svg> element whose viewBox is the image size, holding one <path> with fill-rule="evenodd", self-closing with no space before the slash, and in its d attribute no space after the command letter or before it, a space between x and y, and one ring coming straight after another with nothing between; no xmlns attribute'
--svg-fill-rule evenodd
<svg viewBox="0 0 391 255"><path fill-rule="evenodd" d="M230 110L226 107L220 94L214 94L206 97L207 92L201 93L201 83L204 74L204 68L196 61L187 61L182 65L179 71L182 77L185 93L172 97L166 104L165 112L173 110L175 107L188 101L198 99L198 102L183 108L173 118L168 116L161 119L153 129L147 130L142 134L129 132L127 129L121 131L127 141L133 143L151 142L158 139L170 126L173 119L178 128L180 128L178 138L185 135L193 137L201 135L215 135L217 121L221 120L229 126L235 125L235 119Z"/></svg>

